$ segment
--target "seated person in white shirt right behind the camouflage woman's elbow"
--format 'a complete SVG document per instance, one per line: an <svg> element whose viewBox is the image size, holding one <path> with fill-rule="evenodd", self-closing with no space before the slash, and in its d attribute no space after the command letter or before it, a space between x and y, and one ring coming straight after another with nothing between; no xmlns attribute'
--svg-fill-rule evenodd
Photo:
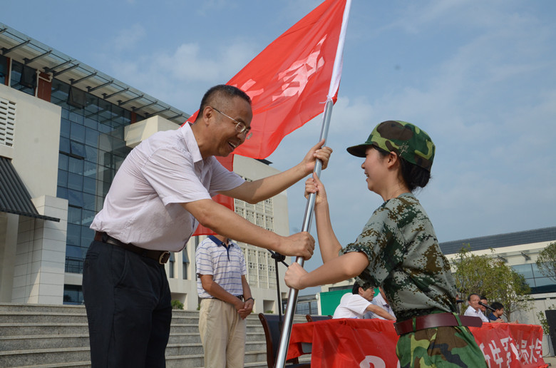
<svg viewBox="0 0 556 368"><path fill-rule="evenodd" d="M363 318L366 312L374 312L376 315L383 317L384 320L396 320L386 310L371 303L374 296L374 288L369 287L363 290L356 282L350 293L341 297L340 305L336 307L332 318Z"/></svg>

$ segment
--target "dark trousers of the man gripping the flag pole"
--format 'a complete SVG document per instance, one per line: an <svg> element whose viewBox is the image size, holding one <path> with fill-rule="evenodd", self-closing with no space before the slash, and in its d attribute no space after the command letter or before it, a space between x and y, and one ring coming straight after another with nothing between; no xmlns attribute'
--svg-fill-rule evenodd
<svg viewBox="0 0 556 368"><path fill-rule="evenodd" d="M83 265L92 368L163 368L172 307L164 265L93 241Z"/></svg>

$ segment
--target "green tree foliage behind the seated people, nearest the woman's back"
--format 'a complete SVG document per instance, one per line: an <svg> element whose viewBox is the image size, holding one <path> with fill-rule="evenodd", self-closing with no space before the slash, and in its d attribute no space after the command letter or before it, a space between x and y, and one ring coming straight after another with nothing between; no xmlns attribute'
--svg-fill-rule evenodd
<svg viewBox="0 0 556 368"><path fill-rule="evenodd" d="M484 295L490 302L500 302L508 321L513 312L531 309L531 289L525 277L505 264L504 260L492 256L473 255L469 245L463 247L452 261L455 268L455 286L463 299L469 294Z"/></svg>

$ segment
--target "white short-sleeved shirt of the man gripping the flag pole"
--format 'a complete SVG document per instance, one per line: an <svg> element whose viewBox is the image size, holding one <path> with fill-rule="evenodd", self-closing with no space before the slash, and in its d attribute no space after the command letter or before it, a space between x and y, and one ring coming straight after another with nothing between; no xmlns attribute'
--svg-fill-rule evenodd
<svg viewBox="0 0 556 368"><path fill-rule="evenodd" d="M216 158L201 157L189 124L135 147L116 173L91 229L153 250L182 250L197 220L180 203L210 199L244 183Z"/></svg>

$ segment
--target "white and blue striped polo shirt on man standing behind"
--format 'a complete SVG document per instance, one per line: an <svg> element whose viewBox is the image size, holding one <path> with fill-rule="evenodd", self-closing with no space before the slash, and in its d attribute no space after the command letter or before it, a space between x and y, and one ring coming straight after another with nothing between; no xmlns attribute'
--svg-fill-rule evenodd
<svg viewBox="0 0 556 368"><path fill-rule="evenodd" d="M197 294L210 298L202 288L200 275L212 275L212 280L232 295L243 295L242 275L247 275L245 258L239 245L230 240L226 247L216 237L207 237L195 251Z"/></svg>

